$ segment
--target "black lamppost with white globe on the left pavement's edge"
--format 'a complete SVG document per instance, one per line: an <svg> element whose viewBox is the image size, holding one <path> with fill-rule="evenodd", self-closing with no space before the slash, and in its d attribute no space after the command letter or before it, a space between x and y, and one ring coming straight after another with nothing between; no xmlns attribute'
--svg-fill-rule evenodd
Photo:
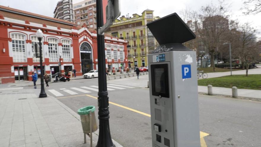
<svg viewBox="0 0 261 147"><path fill-rule="evenodd" d="M41 69L41 92L39 94L39 98L42 97L47 97L47 94L44 91L44 70L43 70L43 59L42 59L42 37L43 37L43 32L38 29L38 31L36 31L36 37L39 40L39 52L40 52L40 69Z"/></svg>

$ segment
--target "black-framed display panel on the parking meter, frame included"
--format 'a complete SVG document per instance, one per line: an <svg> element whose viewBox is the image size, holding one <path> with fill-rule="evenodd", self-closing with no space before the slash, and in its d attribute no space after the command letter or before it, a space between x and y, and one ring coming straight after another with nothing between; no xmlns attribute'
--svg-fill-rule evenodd
<svg viewBox="0 0 261 147"><path fill-rule="evenodd" d="M152 95L169 98L168 64L152 64L150 69Z"/></svg>

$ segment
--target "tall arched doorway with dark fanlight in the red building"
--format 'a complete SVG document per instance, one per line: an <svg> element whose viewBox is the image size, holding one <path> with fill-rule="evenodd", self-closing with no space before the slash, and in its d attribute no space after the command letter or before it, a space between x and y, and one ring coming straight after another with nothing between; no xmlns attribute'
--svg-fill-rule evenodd
<svg viewBox="0 0 261 147"><path fill-rule="evenodd" d="M93 69L92 48L89 43L83 42L80 46L82 74Z"/></svg>

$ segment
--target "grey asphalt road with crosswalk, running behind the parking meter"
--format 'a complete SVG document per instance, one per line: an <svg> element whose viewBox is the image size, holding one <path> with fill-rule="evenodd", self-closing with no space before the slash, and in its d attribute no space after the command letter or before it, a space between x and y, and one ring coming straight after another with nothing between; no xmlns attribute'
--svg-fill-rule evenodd
<svg viewBox="0 0 261 147"><path fill-rule="evenodd" d="M124 85L124 83L121 85ZM75 112L77 112L79 108L87 105L96 106L96 119L98 122L97 99L93 98L97 97L97 91L81 88L82 86L89 88L91 86L98 86L98 78L50 83L50 88L46 89L46 92L48 95L58 98ZM32 87L29 86L27 88ZM38 88L40 88L40 86L38 86ZM62 88L71 90L77 94L69 94L64 92ZM75 88L84 89L89 92L84 93L75 90ZM146 115L120 107L125 106L150 114L149 89L138 87L111 89L114 90L108 91L109 101L117 104L109 105L109 121L112 138L122 146L152 146L150 118ZM48 90L58 91L62 96L55 96ZM85 94L90 96L86 96ZM210 134L204 137L208 147L260 147L260 102L199 95L199 108L200 131Z"/></svg>

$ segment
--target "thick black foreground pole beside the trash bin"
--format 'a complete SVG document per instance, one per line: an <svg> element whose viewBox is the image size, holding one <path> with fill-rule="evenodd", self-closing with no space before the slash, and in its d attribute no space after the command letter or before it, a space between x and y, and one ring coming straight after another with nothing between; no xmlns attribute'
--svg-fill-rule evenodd
<svg viewBox="0 0 261 147"><path fill-rule="evenodd" d="M102 0L96 0L97 10L97 30L104 25L103 22L103 7ZM99 138L96 147L115 147L112 143L109 125L109 97L107 91L106 80L106 63L105 63L105 46L104 33L100 34L97 31L97 46L98 46L98 118L99 118Z"/></svg>

